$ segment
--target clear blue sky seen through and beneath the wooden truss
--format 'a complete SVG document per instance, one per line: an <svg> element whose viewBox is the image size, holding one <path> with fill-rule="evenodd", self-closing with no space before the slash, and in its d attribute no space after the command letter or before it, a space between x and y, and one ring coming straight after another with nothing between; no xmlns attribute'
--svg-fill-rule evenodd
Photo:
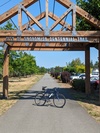
<svg viewBox="0 0 100 133"><path fill-rule="evenodd" d="M71 2L75 3L76 0L70 0ZM16 4L19 4L19 2L22 2L22 0L1 0L0 1L0 15L6 12L7 10L11 9L13 6ZM27 10L33 14L33 16L37 16L40 14L40 12L45 11L45 0L40 0L40 5L39 2L36 2L36 4L30 6ZM41 9L41 10L40 10ZM49 0L49 11L53 12L57 16L61 16L67 9L61 6L59 3L55 2L55 7L54 7L54 0ZM16 15L15 17L12 18L16 26L18 25L18 16ZM23 24L28 21L27 16L23 13ZM72 23L71 19L71 14L69 14L66 18L66 22L69 24ZM45 28L45 19L41 20L40 23L43 25ZM52 26L54 23L53 20L49 19L49 27ZM5 25L4 23L3 25ZM3 26L0 25L0 26ZM39 30L39 28L34 25L34 29ZM61 28L60 25L58 25L55 30L59 30ZM85 52L83 51L27 51L29 54L35 56L36 63L40 67L45 67L45 68L51 68L55 66L61 66L64 67L66 66L69 62L72 60L75 60L77 58L80 58L81 62L85 62ZM95 63L98 61L98 50L95 48L90 49L90 60Z"/></svg>

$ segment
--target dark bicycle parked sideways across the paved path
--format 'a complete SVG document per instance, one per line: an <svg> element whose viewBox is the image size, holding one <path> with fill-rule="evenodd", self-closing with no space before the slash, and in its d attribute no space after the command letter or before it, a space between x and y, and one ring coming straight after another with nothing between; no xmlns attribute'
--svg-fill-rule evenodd
<svg viewBox="0 0 100 133"><path fill-rule="evenodd" d="M66 104L66 98L63 94L59 93L57 88L54 88L53 91L48 92L48 89L45 89L47 86L42 87L42 92L39 92L35 96L35 104L37 106L44 106L46 102L53 99L53 104L55 107L62 108Z"/></svg>

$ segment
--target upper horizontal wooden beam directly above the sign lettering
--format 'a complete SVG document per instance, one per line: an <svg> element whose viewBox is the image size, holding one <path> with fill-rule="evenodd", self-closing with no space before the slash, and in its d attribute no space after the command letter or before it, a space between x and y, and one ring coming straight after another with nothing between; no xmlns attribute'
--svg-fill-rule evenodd
<svg viewBox="0 0 100 133"><path fill-rule="evenodd" d="M0 38L5 38L9 36L17 37L16 30L0 30ZM44 31L28 31L22 32L22 36L44 36ZM50 36L70 36L73 37L72 31L50 31ZM77 36L83 37L100 37L100 31L77 31Z"/></svg>

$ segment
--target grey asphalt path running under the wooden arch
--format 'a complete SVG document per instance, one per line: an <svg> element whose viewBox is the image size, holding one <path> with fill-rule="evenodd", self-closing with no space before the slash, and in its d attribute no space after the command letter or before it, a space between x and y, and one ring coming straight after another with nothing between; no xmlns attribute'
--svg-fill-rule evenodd
<svg viewBox="0 0 100 133"><path fill-rule="evenodd" d="M56 108L51 104L36 106L34 97L42 86L60 86L45 74L18 102L0 116L0 133L100 133L100 124L77 101L66 95L66 105ZM60 89L61 90L61 89Z"/></svg>

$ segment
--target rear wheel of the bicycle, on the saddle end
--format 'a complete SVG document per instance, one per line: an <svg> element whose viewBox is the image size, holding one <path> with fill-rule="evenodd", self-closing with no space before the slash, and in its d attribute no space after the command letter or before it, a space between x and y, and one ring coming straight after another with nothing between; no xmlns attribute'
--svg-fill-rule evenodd
<svg viewBox="0 0 100 133"><path fill-rule="evenodd" d="M46 99L44 95L45 95L44 93L38 93L35 96L35 104L37 106L43 106L46 103Z"/></svg>

